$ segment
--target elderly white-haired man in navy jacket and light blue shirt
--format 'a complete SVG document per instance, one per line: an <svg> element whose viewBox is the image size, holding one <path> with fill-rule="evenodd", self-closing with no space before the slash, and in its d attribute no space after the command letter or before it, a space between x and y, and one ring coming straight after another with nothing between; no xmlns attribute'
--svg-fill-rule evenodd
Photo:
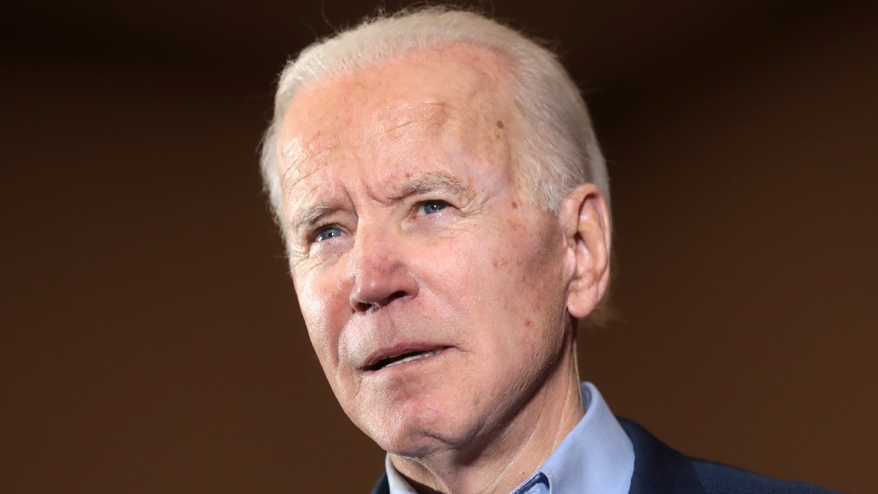
<svg viewBox="0 0 878 494"><path fill-rule="evenodd" d="M329 384L387 451L375 492L824 492L691 460L579 383L607 173L576 85L519 33L427 9L308 47L263 176Z"/></svg>

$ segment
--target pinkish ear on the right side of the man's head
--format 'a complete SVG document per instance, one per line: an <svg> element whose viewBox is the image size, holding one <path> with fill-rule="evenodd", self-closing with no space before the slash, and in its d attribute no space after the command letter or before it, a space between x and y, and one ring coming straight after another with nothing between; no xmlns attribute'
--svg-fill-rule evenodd
<svg viewBox="0 0 878 494"><path fill-rule="evenodd" d="M580 185L567 195L560 214L570 275L567 311L581 319L594 310L609 283L607 201L597 185Z"/></svg>

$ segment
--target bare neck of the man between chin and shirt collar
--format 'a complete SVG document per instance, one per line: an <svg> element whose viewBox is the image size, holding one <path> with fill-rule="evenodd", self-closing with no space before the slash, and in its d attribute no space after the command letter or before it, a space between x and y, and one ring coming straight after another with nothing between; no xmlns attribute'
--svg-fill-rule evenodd
<svg viewBox="0 0 878 494"><path fill-rule="evenodd" d="M421 494L508 493L545 462L585 414L576 343L515 418L476 452L447 451L423 458L391 454L393 466Z"/></svg>

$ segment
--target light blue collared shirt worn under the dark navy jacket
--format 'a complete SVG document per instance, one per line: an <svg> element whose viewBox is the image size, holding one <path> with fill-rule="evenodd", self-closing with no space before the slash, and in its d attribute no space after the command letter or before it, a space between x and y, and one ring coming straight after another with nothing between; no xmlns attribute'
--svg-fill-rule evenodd
<svg viewBox="0 0 878 494"><path fill-rule="evenodd" d="M583 382L586 414L548 460L512 494L628 494L634 447L601 393ZM391 494L416 494L385 458Z"/></svg>

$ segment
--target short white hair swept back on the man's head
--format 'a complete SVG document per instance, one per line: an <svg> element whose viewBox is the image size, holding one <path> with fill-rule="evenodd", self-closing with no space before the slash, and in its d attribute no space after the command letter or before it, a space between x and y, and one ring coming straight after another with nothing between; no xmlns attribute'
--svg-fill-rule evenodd
<svg viewBox="0 0 878 494"><path fill-rule="evenodd" d="M284 67L261 156L265 189L282 231L277 132L296 92L312 81L347 75L408 52L457 43L487 48L509 62L513 97L522 116L523 139L515 149L515 164L530 200L557 212L567 193L591 182L609 204L607 168L586 104L558 57L492 19L470 11L428 7L366 20L306 47Z"/></svg>

